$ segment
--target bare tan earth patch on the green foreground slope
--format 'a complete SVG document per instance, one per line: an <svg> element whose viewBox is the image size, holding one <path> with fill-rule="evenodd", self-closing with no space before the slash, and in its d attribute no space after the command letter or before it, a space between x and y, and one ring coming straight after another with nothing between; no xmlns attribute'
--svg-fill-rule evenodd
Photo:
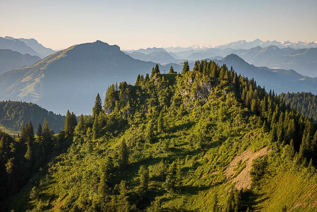
<svg viewBox="0 0 317 212"><path fill-rule="evenodd" d="M229 181L236 183L236 188L250 188L251 176L250 170L252 166L252 161L257 157L268 154L269 150L267 147L260 149L257 152L252 152L250 150L244 151L242 154L237 155L228 165L227 169L224 171L224 175ZM245 168L234 178L234 174L237 167L237 162L241 161L241 164L245 162Z"/></svg>

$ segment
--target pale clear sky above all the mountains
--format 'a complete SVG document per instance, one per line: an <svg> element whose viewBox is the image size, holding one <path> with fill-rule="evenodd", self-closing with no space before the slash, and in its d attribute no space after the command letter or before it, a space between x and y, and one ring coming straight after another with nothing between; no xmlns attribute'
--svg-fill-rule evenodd
<svg viewBox="0 0 317 212"><path fill-rule="evenodd" d="M317 41L317 1L8 1L0 36L59 49L101 40L121 49Z"/></svg>

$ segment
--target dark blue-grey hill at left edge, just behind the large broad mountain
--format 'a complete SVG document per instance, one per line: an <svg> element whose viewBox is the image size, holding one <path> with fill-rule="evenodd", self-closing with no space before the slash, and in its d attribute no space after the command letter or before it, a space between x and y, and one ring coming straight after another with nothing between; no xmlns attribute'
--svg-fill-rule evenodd
<svg viewBox="0 0 317 212"><path fill-rule="evenodd" d="M32 65L41 58L29 54L21 54L9 49L0 49L0 74L25 65Z"/></svg>

